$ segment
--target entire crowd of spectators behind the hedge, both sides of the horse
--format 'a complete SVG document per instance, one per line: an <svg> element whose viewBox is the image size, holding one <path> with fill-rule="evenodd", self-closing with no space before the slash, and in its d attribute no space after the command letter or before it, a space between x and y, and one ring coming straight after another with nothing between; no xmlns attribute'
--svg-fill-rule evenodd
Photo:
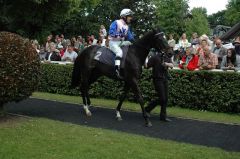
<svg viewBox="0 0 240 159"><path fill-rule="evenodd" d="M91 45L109 47L107 30L100 26L98 39L94 35L83 38L81 35L65 39L64 35L49 35L43 45L36 40L32 41L33 46L39 53L43 62L67 61L74 62L81 51ZM172 61L175 68L195 70L234 70L240 71L240 36L236 37L231 47L225 48L218 37L212 40L207 35L198 36L193 33L187 38L183 33L178 42L174 34L169 34L168 44L174 50ZM150 53L151 54L151 53Z"/></svg>

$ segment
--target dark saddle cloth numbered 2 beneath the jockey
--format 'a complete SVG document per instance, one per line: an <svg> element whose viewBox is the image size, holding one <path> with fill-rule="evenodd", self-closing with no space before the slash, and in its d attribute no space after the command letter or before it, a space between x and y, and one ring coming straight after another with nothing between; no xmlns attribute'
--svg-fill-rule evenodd
<svg viewBox="0 0 240 159"><path fill-rule="evenodd" d="M120 68L124 68L125 66L125 59L128 52L128 48L129 48L128 45L121 47L123 51L123 56L121 59ZM101 47L97 50L94 59L106 65L115 66L115 57L116 57L115 53L111 51L109 48Z"/></svg>

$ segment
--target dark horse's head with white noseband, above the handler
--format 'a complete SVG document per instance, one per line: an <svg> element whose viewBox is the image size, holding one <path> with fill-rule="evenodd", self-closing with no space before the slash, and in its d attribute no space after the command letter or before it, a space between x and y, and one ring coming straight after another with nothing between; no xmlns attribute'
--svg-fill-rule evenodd
<svg viewBox="0 0 240 159"><path fill-rule="evenodd" d="M158 52L164 52L165 54L173 54L172 48L168 45L165 34L161 30L153 31L152 47Z"/></svg>

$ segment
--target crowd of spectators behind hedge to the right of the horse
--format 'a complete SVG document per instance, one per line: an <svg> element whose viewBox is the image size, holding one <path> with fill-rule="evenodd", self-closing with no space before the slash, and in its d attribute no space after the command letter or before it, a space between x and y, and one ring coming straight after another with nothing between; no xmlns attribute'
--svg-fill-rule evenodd
<svg viewBox="0 0 240 159"><path fill-rule="evenodd" d="M195 70L234 70L240 71L240 37L236 37L233 44L227 48L218 37L212 40L207 35L198 37L193 33L188 39L183 33L178 43L169 35L168 44L174 50L172 58L175 67Z"/></svg>

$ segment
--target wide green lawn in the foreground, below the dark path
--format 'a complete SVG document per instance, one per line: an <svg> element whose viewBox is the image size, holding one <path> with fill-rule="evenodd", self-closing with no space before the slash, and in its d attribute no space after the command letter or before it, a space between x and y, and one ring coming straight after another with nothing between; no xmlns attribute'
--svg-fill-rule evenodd
<svg viewBox="0 0 240 159"><path fill-rule="evenodd" d="M1 125L1 123L0 123ZM240 153L42 118L0 126L1 159L239 159Z"/></svg>

